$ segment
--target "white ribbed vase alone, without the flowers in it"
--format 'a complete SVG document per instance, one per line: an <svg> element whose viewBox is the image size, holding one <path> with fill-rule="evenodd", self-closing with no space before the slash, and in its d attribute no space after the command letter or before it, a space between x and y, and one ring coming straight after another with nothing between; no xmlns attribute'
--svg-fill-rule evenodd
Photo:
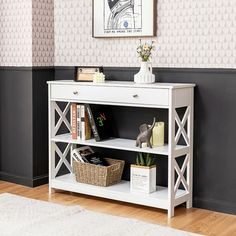
<svg viewBox="0 0 236 236"><path fill-rule="evenodd" d="M142 61L140 70L134 75L134 82L137 84L152 84L155 83L155 75L152 74L151 62Z"/></svg>

